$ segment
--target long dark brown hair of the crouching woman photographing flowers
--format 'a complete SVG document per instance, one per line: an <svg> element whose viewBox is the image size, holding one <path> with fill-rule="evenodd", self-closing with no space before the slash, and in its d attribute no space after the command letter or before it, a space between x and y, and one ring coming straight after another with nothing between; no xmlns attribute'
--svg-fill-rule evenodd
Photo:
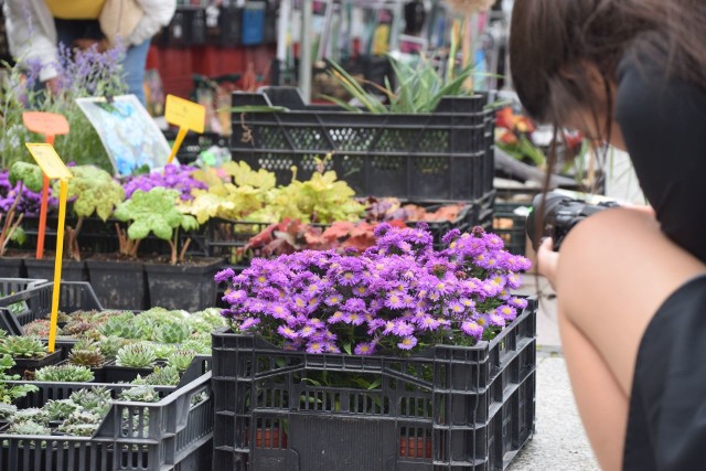
<svg viewBox="0 0 706 471"><path fill-rule="evenodd" d="M566 125L577 109L610 119L607 92L627 51L706 87L705 33L704 0L515 0L513 85L538 121ZM598 68L603 87L587 64Z"/></svg>

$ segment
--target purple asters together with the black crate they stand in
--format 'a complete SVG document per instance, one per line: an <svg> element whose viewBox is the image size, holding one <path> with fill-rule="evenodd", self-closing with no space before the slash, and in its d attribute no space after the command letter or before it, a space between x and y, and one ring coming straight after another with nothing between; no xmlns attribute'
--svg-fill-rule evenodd
<svg viewBox="0 0 706 471"><path fill-rule="evenodd" d="M375 236L365 251L308 250L216 276L229 283L231 328L213 333L214 463L296 452L306 468L335 448L336 460L367 452L365 469L431 465L431 456L472 465L490 446L475 427L498 422L506 402L533 400L536 307L511 292L528 260L480 227L449 232L443 249L421 227L381 224ZM518 430L506 446L522 446L533 413L502 418ZM290 450L247 442L260 427L279 430L280 443L286 435Z"/></svg>

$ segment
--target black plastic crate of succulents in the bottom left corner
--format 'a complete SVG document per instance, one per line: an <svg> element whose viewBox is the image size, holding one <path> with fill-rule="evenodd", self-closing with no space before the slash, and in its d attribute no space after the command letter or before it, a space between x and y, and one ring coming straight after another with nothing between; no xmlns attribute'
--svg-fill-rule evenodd
<svg viewBox="0 0 706 471"><path fill-rule="evenodd" d="M92 383L33 383L20 407L41 407ZM108 385L115 393L131 385ZM18 436L0 431L0 469L42 471L210 471L213 438L211 373L178 388L157 388L158 403L114 403L93 437ZM171 394L169 394L171 392ZM205 399L192 404L204 393ZM132 417L125 420L124 417Z"/></svg>

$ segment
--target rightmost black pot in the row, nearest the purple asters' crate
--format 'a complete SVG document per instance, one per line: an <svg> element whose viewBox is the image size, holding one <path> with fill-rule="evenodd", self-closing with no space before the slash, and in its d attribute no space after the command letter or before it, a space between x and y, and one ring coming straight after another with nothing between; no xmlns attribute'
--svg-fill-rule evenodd
<svg viewBox="0 0 706 471"><path fill-rule="evenodd" d="M202 258L199 264L145 264L150 306L200 311L216 303L213 277L223 265L221 258Z"/></svg>

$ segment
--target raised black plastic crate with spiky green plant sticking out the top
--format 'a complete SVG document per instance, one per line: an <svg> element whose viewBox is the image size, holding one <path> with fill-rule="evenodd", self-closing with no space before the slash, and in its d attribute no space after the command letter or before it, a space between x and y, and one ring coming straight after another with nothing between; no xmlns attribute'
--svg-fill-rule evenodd
<svg viewBox="0 0 706 471"><path fill-rule="evenodd" d="M291 180L327 161L360 196L472 201L493 188L493 115L488 96L446 97L430 114L343 111L304 106L293 87L235 92L233 106L282 106L282 113L234 113L234 160Z"/></svg>

